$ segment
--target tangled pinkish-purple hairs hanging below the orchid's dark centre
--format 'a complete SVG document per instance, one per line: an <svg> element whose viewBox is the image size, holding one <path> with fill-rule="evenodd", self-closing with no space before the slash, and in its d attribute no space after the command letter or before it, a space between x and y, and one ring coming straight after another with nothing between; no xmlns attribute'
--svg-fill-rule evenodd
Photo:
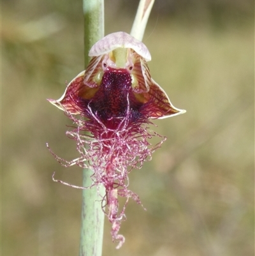
<svg viewBox="0 0 255 256"><path fill-rule="evenodd" d="M105 195L101 195L102 209L112 223L112 239L119 243L117 248L120 248L125 238L119 234L119 229L121 222L126 220L124 211L128 200L131 198L141 204L138 195L128 189L128 174L134 168L140 169L143 162L151 160L152 153L161 146L166 137L149 130L148 126L151 123L148 119L140 117L131 122L132 114L129 109L126 109L126 116L122 117L121 121L119 117L113 117L113 123L118 123L114 129L106 128L100 117L92 110L91 119L66 114L77 125L77 128L66 134L69 138L76 140L80 156L68 162L52 154L64 167L78 165L91 169L93 173L90 187L103 184ZM155 146L149 143L152 137L160 139ZM119 209L119 197L126 197L126 203L122 209Z"/></svg>

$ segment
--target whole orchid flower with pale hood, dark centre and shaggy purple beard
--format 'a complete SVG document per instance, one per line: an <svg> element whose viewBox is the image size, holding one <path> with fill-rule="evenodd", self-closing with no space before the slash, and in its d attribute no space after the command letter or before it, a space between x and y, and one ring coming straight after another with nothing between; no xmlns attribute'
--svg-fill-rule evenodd
<svg viewBox="0 0 255 256"><path fill-rule="evenodd" d="M65 167L90 168L91 186L103 184L102 208L119 248L124 243L119 229L126 218L128 199L141 203L138 195L128 190L128 174L150 160L166 139L149 130L150 119L186 111L173 107L165 91L150 77L150 52L133 36L108 34L93 45L89 56L87 69L71 80L62 97L48 99L75 123L77 128L66 133L76 140L80 156L68 162L52 154ZM154 136L161 140L156 146L149 143ZM126 197L121 210L119 197Z"/></svg>

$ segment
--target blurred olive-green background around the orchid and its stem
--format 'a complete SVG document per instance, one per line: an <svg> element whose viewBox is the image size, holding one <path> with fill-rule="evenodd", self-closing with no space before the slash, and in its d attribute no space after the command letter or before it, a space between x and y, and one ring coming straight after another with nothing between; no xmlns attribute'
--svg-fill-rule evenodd
<svg viewBox="0 0 255 256"><path fill-rule="evenodd" d="M129 33L138 1L105 1L106 34ZM2 253L78 255L82 170L71 124L46 101L84 69L82 1L2 0ZM103 256L254 255L254 3L156 0L144 43L154 80L187 113L155 121L168 140L130 188Z"/></svg>

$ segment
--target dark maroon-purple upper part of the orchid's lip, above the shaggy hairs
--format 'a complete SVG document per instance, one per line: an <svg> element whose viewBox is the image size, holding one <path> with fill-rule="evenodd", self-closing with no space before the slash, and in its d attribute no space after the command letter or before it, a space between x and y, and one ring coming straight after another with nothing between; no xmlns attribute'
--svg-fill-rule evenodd
<svg viewBox="0 0 255 256"><path fill-rule="evenodd" d="M98 91L91 100L85 101L107 128L115 128L122 117L128 117L130 122L141 117L139 109L143 104L133 94L131 75L126 69L108 68Z"/></svg>

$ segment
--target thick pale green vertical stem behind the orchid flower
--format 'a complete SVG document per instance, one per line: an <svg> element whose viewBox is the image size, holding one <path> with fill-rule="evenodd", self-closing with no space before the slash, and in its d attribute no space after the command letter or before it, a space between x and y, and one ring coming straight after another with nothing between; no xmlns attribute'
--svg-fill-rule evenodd
<svg viewBox="0 0 255 256"><path fill-rule="evenodd" d="M104 1L83 0L84 6L84 61L89 63L89 50L104 36ZM83 170L83 186L91 185L92 170ZM104 187L99 188L104 195ZM96 186L82 190L82 223L79 256L101 256L105 215Z"/></svg>

